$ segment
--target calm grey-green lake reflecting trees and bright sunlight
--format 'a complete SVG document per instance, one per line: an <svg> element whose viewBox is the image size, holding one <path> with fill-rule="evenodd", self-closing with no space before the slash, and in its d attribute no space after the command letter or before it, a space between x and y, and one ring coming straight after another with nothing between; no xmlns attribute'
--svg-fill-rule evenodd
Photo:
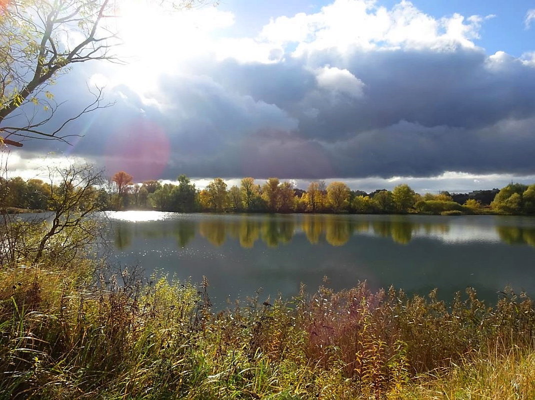
<svg viewBox="0 0 535 400"><path fill-rule="evenodd" d="M510 285L535 294L535 218L522 216L106 213L110 261L180 279L208 277L215 304L301 283L394 285L439 297L475 287L495 301ZM326 278L324 278L326 277Z"/></svg>

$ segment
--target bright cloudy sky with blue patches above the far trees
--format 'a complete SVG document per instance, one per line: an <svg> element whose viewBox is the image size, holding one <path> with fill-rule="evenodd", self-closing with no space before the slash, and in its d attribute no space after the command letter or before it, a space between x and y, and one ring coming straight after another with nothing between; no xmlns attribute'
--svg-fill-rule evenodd
<svg viewBox="0 0 535 400"><path fill-rule="evenodd" d="M244 176L366 191L535 182L533 2L125 4L126 64L79 64L51 89L65 100L56 121L95 85L114 105L72 123L82 137L71 145L12 150L12 175L70 156L199 187Z"/></svg>

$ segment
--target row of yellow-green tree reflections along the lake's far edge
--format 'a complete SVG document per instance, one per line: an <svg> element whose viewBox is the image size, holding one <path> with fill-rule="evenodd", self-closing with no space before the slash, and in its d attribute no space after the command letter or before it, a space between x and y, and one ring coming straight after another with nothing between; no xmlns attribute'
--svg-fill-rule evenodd
<svg viewBox="0 0 535 400"><path fill-rule="evenodd" d="M326 242L331 246L344 246L355 234L387 238L396 244L407 245L415 237L441 238L448 233L453 234L447 219L440 220L440 223L418 223L415 219L399 215L331 214L186 216L176 221L139 222L135 225L118 222L113 226L113 241L115 247L122 250L131 246L133 236L149 239L174 237L178 247L185 248L198 231L216 247L223 245L227 238L238 241L243 248L253 248L258 239L268 247L278 247L291 242L296 232L300 232L311 245ZM488 232L484 227L480 229ZM531 226L498 225L495 232L496 240L506 244L535 246L535 229Z"/></svg>

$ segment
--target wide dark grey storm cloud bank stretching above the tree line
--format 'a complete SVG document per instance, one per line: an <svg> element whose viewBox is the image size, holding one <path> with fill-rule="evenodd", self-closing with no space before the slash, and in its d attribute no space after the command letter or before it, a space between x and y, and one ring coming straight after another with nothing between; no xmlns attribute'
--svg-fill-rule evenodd
<svg viewBox="0 0 535 400"><path fill-rule="evenodd" d="M362 95L321 87L325 67L347 69ZM71 152L104 155L109 169L139 179L535 173L535 68L506 54L328 50L273 64L203 60L192 70L162 77L148 99L109 90L116 105L74 122L86 136ZM55 89L71 99L58 116L90 98L71 88Z"/></svg>

